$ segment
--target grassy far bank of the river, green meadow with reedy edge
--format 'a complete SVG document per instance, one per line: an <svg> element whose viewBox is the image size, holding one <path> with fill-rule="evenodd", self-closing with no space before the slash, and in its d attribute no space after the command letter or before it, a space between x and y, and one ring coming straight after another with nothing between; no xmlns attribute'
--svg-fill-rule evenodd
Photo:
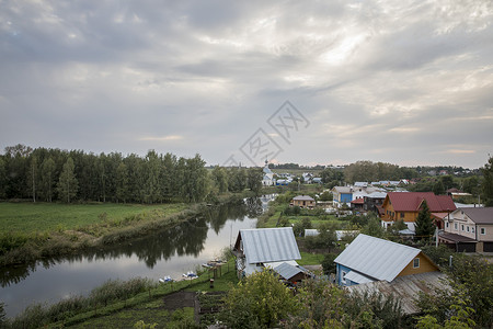
<svg viewBox="0 0 493 329"><path fill-rule="evenodd" d="M217 205L241 200L230 194ZM202 216L197 204L0 203L0 265L77 254Z"/></svg>

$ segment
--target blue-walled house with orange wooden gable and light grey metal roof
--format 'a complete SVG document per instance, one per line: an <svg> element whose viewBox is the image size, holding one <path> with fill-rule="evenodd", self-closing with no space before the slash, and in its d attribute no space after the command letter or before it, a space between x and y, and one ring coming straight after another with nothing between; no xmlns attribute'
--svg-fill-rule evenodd
<svg viewBox="0 0 493 329"><path fill-rule="evenodd" d="M334 260L339 285L352 286L437 272L438 266L420 249L359 234Z"/></svg>

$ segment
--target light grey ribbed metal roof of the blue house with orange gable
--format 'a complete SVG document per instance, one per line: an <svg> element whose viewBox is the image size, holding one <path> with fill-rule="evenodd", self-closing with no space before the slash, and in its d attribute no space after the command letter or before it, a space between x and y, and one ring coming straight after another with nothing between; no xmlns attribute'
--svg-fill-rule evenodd
<svg viewBox="0 0 493 329"><path fill-rule="evenodd" d="M360 234L334 262L372 279L390 282L420 252L416 248Z"/></svg>

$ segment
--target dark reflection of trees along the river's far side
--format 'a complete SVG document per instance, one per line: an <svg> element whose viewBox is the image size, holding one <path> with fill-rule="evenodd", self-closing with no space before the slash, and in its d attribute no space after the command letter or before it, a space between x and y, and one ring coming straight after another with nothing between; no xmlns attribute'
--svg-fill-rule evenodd
<svg viewBox="0 0 493 329"><path fill-rule="evenodd" d="M146 262L152 269L158 261L169 260L172 256L197 257L204 250L207 239L207 224L218 234L225 226L226 220L243 220L245 216L254 218L262 213L262 202L259 198L246 198L236 201L221 206L210 206L202 214L190 220L165 228L144 238L126 241L112 247L84 250L78 254L59 258L45 259L39 262L31 262L16 266L0 269L1 286L20 283L30 273L36 271L37 265L48 269L57 263L68 261L69 263L89 262L94 260L118 259L136 254L139 260Z"/></svg>

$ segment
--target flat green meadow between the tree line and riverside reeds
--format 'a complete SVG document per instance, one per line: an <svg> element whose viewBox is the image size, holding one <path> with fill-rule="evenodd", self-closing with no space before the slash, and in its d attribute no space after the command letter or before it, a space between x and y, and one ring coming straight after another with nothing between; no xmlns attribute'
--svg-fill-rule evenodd
<svg viewBox="0 0 493 329"><path fill-rule="evenodd" d="M49 232L77 229L102 220L122 220L128 216L162 216L185 209L185 204L60 204L0 203L0 232Z"/></svg>

